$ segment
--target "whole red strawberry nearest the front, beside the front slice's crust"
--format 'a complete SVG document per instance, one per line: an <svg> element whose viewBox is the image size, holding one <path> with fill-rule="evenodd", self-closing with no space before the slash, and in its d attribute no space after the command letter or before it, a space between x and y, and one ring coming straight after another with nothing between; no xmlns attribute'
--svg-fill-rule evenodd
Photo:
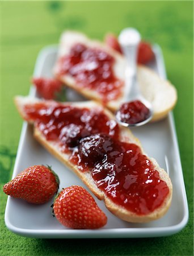
<svg viewBox="0 0 194 256"><path fill-rule="evenodd" d="M53 212L64 226L73 229L98 229L107 223L107 216L94 198L78 185L63 189L54 201Z"/></svg>

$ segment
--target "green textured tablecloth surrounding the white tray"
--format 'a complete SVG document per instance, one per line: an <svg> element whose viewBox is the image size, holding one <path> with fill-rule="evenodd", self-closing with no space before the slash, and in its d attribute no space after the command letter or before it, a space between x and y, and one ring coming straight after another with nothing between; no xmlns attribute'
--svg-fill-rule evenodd
<svg viewBox="0 0 194 256"><path fill-rule="evenodd" d="M24 238L7 230L7 196L1 189L1 255L193 255L193 2L192 1L1 1L1 188L11 177L22 119L12 98L26 95L37 54L58 43L63 30L103 39L106 32L137 27L158 43L168 79L178 90L174 110L189 222L170 237L108 240ZM21 170L22 171L22 170Z"/></svg>

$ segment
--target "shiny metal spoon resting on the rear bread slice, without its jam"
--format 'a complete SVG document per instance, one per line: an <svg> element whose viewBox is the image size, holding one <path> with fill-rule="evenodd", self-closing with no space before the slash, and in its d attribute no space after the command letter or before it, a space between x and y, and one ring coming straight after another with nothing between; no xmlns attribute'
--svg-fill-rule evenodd
<svg viewBox="0 0 194 256"><path fill-rule="evenodd" d="M150 115L144 121L138 123L126 123L121 121L118 110L116 119L125 127L145 125L145 123L149 122L153 116L153 108L150 102L142 96L137 82L137 50L140 40L140 33L135 28L125 28L119 35L119 43L126 57L125 90L124 98L121 103L140 100L146 108L149 109Z"/></svg>

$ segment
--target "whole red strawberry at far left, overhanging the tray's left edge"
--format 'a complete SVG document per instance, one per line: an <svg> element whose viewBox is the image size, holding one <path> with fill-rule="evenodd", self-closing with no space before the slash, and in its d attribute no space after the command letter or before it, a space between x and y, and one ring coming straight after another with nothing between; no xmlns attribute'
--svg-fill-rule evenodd
<svg viewBox="0 0 194 256"><path fill-rule="evenodd" d="M32 166L5 184L3 191L28 203L43 204L57 193L58 184L58 176L49 166Z"/></svg>

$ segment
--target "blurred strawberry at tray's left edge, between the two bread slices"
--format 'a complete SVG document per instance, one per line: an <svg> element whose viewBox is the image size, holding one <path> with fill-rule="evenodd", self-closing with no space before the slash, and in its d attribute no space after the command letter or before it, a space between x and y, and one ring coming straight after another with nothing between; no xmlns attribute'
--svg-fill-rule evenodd
<svg viewBox="0 0 194 256"><path fill-rule="evenodd" d="M45 100L64 100L64 85L56 79L33 78L32 83Z"/></svg>

